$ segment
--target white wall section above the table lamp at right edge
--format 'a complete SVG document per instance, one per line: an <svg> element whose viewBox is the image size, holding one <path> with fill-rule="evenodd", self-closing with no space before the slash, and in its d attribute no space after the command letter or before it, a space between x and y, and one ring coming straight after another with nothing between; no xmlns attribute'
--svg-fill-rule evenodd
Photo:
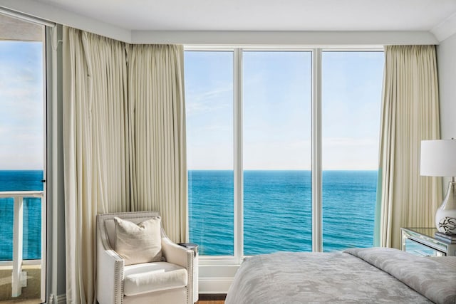
<svg viewBox="0 0 456 304"><path fill-rule="evenodd" d="M456 139L456 34L437 46L440 94L440 135Z"/></svg>

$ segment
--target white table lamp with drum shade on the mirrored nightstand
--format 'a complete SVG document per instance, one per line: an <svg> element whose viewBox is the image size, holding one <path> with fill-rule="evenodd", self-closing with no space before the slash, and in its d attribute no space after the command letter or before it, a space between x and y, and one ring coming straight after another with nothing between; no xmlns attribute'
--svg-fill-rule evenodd
<svg viewBox="0 0 456 304"><path fill-rule="evenodd" d="M452 177L435 212L435 226L443 234L456 234L456 140L422 140L420 175Z"/></svg>

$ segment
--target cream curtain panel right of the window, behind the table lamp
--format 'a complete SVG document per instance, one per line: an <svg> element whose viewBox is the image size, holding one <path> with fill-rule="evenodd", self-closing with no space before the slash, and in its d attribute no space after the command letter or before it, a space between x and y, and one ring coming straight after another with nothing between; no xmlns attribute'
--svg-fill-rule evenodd
<svg viewBox="0 0 456 304"><path fill-rule="evenodd" d="M375 245L433 227L441 179L420 177L420 142L440 138L435 46L385 46Z"/></svg>

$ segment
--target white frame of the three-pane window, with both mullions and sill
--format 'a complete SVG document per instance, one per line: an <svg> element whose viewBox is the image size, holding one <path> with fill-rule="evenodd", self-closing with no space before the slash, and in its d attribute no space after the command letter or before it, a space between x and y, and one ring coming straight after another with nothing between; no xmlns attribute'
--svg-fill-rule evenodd
<svg viewBox="0 0 456 304"><path fill-rule="evenodd" d="M312 189L312 251L323 252L323 169L322 169L322 53L383 52L383 46L184 46L184 51L233 52L233 163L234 163L234 255L199 256L200 266L239 266L244 259L244 179L243 179L243 98L242 54L244 51L301 51L311 53L311 189ZM229 276L231 267L221 270ZM213 273L213 269L209 273ZM208 273L208 274L209 274ZM217 271L218 273L218 271ZM202 275L206 271L202 272ZM211 275L213 276L213 275Z"/></svg>

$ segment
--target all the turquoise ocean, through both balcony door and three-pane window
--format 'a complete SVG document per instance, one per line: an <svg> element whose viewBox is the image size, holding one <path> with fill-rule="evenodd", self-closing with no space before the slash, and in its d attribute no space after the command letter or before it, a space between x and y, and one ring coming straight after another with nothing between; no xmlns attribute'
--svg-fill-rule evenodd
<svg viewBox="0 0 456 304"><path fill-rule="evenodd" d="M234 253L233 172L190 170L190 241ZM0 171L0 192L42 190L42 171ZM376 171L323 171L323 251L373 245ZM0 261L12 257L13 199L0 199ZM24 259L41 258L40 199L24 199ZM311 251L311 172L244 172L244 255Z"/></svg>

